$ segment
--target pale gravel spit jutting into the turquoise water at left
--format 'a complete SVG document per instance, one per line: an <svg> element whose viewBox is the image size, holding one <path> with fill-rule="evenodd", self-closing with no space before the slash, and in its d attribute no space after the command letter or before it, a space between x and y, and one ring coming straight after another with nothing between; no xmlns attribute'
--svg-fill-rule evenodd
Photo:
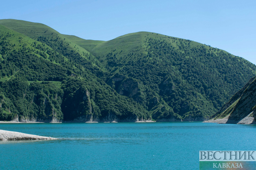
<svg viewBox="0 0 256 170"><path fill-rule="evenodd" d="M12 132L7 130L0 130L0 140L56 140L56 139L57 138L24 134L20 132Z"/></svg>

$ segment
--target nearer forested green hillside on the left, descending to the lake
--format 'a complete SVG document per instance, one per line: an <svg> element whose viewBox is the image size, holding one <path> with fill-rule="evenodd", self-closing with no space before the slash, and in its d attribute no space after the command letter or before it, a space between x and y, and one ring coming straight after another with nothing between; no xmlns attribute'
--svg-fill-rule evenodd
<svg viewBox="0 0 256 170"><path fill-rule="evenodd" d="M27 33L19 27L20 22L26 23L0 21L1 120L150 119L145 108L117 94L102 80L108 72L88 51L59 33L55 32L55 39L44 36L43 24L35 23L41 30L36 36Z"/></svg>

